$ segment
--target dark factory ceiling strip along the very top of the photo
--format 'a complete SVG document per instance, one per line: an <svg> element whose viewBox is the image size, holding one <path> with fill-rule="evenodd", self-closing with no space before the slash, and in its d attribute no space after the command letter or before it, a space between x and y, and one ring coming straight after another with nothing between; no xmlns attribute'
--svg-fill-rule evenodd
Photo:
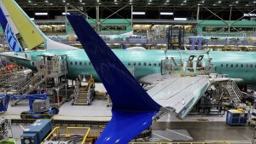
<svg viewBox="0 0 256 144"><path fill-rule="evenodd" d="M165 8L194 8L198 5L205 7L239 7L251 9L256 6L256 0L16 0L24 9L56 9L66 5L91 7L103 5L108 7L161 7Z"/></svg>

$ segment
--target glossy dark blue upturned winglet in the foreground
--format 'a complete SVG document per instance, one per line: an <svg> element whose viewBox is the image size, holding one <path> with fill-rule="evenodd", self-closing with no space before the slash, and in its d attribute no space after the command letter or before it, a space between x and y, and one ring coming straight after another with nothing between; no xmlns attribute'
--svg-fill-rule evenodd
<svg viewBox="0 0 256 144"><path fill-rule="evenodd" d="M67 18L113 101L113 118L96 143L128 143L148 129L160 105L145 92L82 15L67 15Z"/></svg>

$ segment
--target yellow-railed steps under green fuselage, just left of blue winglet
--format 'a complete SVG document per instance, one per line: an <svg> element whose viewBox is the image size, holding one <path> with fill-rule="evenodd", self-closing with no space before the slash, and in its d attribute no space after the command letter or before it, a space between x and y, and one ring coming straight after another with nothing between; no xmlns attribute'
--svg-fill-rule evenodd
<svg viewBox="0 0 256 144"><path fill-rule="evenodd" d="M80 83L77 83L80 85ZM90 78L88 84L85 86L77 85L75 89L73 105L79 106L89 106L93 100L93 95L91 95L91 90L94 90L94 79Z"/></svg>

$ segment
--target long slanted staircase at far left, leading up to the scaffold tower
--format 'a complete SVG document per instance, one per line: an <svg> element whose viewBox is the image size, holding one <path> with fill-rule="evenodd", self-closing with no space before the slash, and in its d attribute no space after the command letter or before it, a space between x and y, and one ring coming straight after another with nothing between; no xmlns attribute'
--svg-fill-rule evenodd
<svg viewBox="0 0 256 144"><path fill-rule="evenodd" d="M14 95L29 95L33 90L37 89L40 84L43 84L45 78L42 78L41 72L35 73L35 75L30 78L25 84L20 86ZM16 99L12 101L12 106L16 106L22 99Z"/></svg>

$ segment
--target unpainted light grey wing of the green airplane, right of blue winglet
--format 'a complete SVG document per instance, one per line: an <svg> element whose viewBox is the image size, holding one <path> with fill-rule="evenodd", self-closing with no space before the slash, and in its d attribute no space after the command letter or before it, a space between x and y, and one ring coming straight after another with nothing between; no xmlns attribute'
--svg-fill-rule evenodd
<svg viewBox="0 0 256 144"><path fill-rule="evenodd" d="M174 108L184 118L210 86L207 76L168 78L148 90L154 101L167 110Z"/></svg>

